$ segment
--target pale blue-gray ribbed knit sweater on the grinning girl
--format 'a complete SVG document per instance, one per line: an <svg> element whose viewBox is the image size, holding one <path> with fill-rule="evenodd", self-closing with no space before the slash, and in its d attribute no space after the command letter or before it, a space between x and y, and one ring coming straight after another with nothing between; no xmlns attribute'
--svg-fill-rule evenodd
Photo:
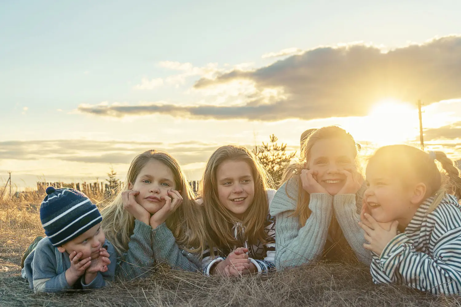
<svg viewBox="0 0 461 307"><path fill-rule="evenodd" d="M299 266L318 259L323 253L327 237L337 237L337 233L331 233L337 231L343 232L357 259L370 264L371 256L363 248L365 239L358 225L364 187L357 194L310 194L309 209L312 213L301 227L298 217L291 216L297 205L298 183L297 178L285 182L270 204L270 213L275 216L276 268ZM335 231L332 227L329 233L333 216L340 229Z"/></svg>

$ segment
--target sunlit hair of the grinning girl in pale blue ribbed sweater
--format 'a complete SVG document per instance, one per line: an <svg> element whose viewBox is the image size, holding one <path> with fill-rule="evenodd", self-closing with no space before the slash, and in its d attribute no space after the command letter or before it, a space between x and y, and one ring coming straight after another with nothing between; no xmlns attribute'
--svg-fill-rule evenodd
<svg viewBox="0 0 461 307"><path fill-rule="evenodd" d="M304 168L304 162L309 162L312 146L321 139L344 139L349 143L354 158L356 159L357 157L357 145L355 144L354 138L340 127L322 127L308 135L307 139L305 139L304 143L301 145L301 155L299 162L290 164L285 168L281 181L284 183L290 179L298 180L297 204L293 216L297 216L299 218L299 224L301 227L306 224L306 221L311 214L311 210L309 209L310 195L306 190L303 189L299 175L301 174L301 170ZM286 186L285 192L288 195ZM288 195L288 197L296 199L296 196Z"/></svg>

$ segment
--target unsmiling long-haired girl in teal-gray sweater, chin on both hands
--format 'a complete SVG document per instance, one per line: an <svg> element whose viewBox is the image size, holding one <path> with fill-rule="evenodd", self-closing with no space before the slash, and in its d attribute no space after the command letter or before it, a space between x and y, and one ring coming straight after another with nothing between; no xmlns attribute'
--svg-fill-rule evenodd
<svg viewBox="0 0 461 307"><path fill-rule="evenodd" d="M155 263L200 271L202 215L176 159L149 150L131 162L122 190L101 211L106 237L122 255L128 278L143 276Z"/></svg>

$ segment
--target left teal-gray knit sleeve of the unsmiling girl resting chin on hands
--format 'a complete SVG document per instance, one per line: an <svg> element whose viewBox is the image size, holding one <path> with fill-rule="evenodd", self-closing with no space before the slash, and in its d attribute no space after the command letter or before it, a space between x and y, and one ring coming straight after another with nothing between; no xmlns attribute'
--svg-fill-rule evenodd
<svg viewBox="0 0 461 307"><path fill-rule="evenodd" d="M146 277L148 272L155 270L151 230L151 226L135 220L135 228L128 243L128 250L118 261L118 277L129 280Z"/></svg>

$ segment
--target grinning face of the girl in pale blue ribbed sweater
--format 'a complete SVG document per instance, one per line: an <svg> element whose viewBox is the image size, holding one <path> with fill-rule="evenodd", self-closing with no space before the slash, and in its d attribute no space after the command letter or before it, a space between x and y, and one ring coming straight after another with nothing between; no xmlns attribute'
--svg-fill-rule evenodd
<svg viewBox="0 0 461 307"><path fill-rule="evenodd" d="M319 139L310 149L308 169L317 171L317 182L330 195L336 195L346 182L343 170L356 171L355 155L344 139Z"/></svg>

